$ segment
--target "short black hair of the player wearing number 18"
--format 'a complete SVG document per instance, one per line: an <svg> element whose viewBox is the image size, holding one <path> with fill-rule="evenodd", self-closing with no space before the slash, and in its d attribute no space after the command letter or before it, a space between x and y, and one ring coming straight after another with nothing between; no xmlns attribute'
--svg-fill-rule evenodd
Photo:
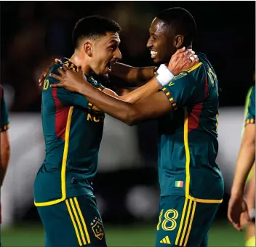
<svg viewBox="0 0 256 247"><path fill-rule="evenodd" d="M186 45L192 43L196 34L196 21L188 10L180 7L169 8L160 12L156 17L166 23L169 28L174 28L177 34L182 34Z"/></svg>

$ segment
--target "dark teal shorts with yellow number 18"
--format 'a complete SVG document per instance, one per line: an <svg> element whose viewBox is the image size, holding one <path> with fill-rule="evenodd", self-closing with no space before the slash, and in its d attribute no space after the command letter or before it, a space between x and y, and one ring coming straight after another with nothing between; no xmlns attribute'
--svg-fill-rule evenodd
<svg viewBox="0 0 256 247"><path fill-rule="evenodd" d="M156 246L208 246L209 227L220 204L198 203L179 195L160 198Z"/></svg>

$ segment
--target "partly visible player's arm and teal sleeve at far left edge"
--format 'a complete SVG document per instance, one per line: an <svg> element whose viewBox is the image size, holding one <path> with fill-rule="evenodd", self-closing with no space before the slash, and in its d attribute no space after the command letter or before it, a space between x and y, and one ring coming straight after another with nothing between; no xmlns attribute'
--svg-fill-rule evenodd
<svg viewBox="0 0 256 247"><path fill-rule="evenodd" d="M1 120L0 120L0 131L1 131L1 163L0 163L0 187L4 181L4 176L7 172L7 166L9 163L10 147L9 147L9 118L7 105L4 100L4 90L0 86L0 99L1 99Z"/></svg>

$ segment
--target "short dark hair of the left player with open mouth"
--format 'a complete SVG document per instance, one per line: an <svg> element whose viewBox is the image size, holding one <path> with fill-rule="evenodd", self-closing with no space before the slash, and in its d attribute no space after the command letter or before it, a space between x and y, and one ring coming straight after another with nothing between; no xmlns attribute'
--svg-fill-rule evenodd
<svg viewBox="0 0 256 247"><path fill-rule="evenodd" d="M121 32L121 27L114 20L99 15L91 15L80 19L73 28L72 42L76 49L81 39L104 36L107 32Z"/></svg>

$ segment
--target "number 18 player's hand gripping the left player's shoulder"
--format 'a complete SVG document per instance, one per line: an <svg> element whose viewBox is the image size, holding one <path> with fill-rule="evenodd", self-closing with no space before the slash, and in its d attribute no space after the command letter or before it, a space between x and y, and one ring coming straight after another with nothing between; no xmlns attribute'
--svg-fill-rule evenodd
<svg viewBox="0 0 256 247"><path fill-rule="evenodd" d="M60 73L60 76L50 73L49 76L60 81L57 84L51 84L54 88L64 87L71 92L81 92L81 89L87 82L86 77L81 69L77 72L69 69L67 66L63 66L57 70Z"/></svg>

